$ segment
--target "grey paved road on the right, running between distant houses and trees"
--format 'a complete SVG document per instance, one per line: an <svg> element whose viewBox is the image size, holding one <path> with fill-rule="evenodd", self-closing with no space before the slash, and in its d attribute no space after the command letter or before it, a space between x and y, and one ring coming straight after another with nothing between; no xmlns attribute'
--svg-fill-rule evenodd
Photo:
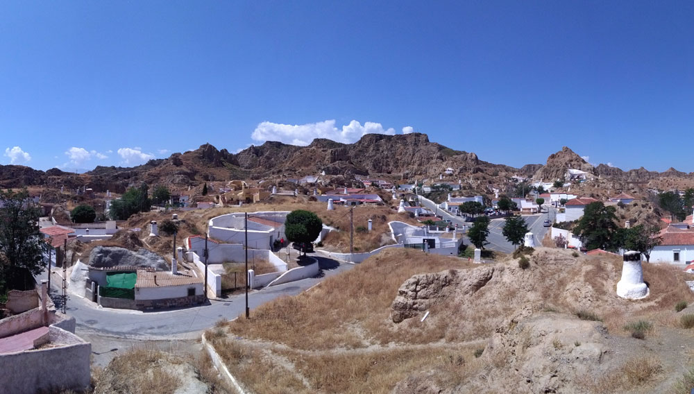
<svg viewBox="0 0 694 394"><path fill-rule="evenodd" d="M428 209L437 212L437 214L439 214L440 216L443 216L443 219L449 219L450 221L452 221L452 223L457 223L458 228L462 228L464 225L466 225L469 228L471 225L471 223L464 221L461 216L452 215L443 209L435 207L434 203L432 203L430 200L421 198L421 204L424 207L427 207ZM543 205L543 208L545 207L547 207L547 205ZM556 214L553 211L555 208L549 207L549 209L549 213L545 212L543 214L523 216L523 219L525 219L525 223L527 223L528 230L530 230L530 232L532 232L535 237L536 245L541 245L541 239L545 237L545 234L549 230L549 228L543 226L545 219L548 219L549 216L549 219L551 220L553 215ZM514 246L506 240L506 237L504 237L501 234L504 224L504 219L492 219L491 223L489 223L489 237L487 237L486 239L487 242L489 242L489 244L485 246L485 248L504 253L511 253L514 251ZM467 239L467 237L465 238ZM469 242L469 240L467 241Z"/></svg>

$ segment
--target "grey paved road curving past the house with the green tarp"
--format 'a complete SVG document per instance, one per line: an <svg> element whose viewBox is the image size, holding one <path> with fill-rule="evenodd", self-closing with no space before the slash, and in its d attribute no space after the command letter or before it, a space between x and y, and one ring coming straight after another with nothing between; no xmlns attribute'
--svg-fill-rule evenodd
<svg viewBox="0 0 694 394"><path fill-rule="evenodd" d="M321 274L318 277L280 284L269 288L254 290L248 293L248 307L253 309L274 300L282 295L296 295L319 284L325 277L336 275L350 268L353 264L339 263L336 260L314 255L319 260ZM42 273L37 280L46 277ZM51 297L60 305L58 297L61 278L53 273ZM194 338L203 329L212 327L220 319L233 319L246 311L244 294L232 295L224 300L210 300L208 305L168 311L126 311L97 307L94 302L76 295L69 295L67 314L73 316L81 331L103 335L121 336L139 339Z"/></svg>

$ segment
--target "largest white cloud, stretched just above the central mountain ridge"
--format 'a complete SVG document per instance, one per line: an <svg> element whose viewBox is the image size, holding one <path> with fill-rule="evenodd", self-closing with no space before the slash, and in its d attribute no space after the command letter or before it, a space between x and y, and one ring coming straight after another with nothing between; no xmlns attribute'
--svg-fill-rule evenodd
<svg viewBox="0 0 694 394"><path fill-rule="evenodd" d="M375 122L365 122L362 126L362 123L358 121L350 121L348 125L337 128L335 127L335 119L300 125L264 121L253 130L251 138L260 142L279 141L285 144L303 146L310 144L315 138L327 138L350 144L365 134L394 135L395 133L394 128L383 128L381 123Z"/></svg>

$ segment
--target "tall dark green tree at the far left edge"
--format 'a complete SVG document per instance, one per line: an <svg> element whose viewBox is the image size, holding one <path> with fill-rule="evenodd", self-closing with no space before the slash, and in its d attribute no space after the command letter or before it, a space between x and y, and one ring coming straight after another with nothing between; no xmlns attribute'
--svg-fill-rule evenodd
<svg viewBox="0 0 694 394"><path fill-rule="evenodd" d="M0 289L24 290L24 273L43 271L39 217L26 188L0 190Z"/></svg>

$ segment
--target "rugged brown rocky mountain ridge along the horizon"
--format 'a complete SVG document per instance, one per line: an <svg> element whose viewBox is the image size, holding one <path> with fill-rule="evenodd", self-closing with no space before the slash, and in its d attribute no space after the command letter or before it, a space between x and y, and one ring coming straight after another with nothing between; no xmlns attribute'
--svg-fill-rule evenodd
<svg viewBox="0 0 694 394"><path fill-rule="evenodd" d="M218 150L203 144L195 151L174 153L166 159L155 159L135 167L97 166L87 173L69 173L60 169L39 171L26 166L0 166L0 187L44 186L69 189L88 185L95 191L107 189L120 193L138 182L162 183L174 187L199 185L212 180L283 179L304 175L386 176L405 179L444 178L447 182L462 180L480 188L500 185L513 175L551 182L562 179L566 169L580 169L596 177L624 182L643 182L656 178L694 178L675 169L663 173L635 169L622 171L600 164L593 167L564 146L550 155L545 164L526 164L521 169L480 160L475 153L455 151L430 142L421 133L407 135L367 134L353 144L329 139L314 139L307 146L265 142L239 153ZM452 171L451 171L452 170Z"/></svg>

